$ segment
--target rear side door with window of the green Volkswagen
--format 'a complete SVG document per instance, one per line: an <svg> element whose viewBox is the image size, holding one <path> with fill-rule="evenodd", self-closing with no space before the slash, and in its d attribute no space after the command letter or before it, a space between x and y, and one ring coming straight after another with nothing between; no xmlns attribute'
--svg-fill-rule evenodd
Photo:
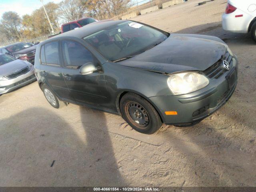
<svg viewBox="0 0 256 192"><path fill-rule="evenodd" d="M59 56L59 41L44 44L41 48L41 73L45 82L63 100L72 100L62 74Z"/></svg>

